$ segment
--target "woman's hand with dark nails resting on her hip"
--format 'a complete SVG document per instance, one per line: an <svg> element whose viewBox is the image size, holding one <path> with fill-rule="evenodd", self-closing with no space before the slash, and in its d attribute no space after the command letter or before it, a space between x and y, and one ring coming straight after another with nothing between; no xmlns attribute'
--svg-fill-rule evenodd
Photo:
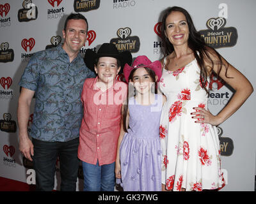
<svg viewBox="0 0 256 204"><path fill-rule="evenodd" d="M196 123L209 123L212 124L212 126L218 126L218 124L221 124L218 116L212 115L212 113L208 110L200 107L194 107L193 109L195 110L195 112L192 112L190 114L194 115L192 116L192 118L196 119Z"/></svg>

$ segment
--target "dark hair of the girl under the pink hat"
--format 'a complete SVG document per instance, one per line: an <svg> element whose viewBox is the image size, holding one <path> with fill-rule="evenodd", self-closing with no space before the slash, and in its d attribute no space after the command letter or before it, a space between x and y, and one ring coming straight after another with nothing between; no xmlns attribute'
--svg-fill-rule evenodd
<svg viewBox="0 0 256 204"><path fill-rule="evenodd" d="M140 65L141 66L141 65ZM145 70L147 71L148 75L151 77L152 79L152 82L154 82L154 93L157 94L157 81L156 81L156 74L155 72L150 69L150 68L147 68L147 67L144 67ZM134 68L132 69L130 75L129 75L129 78L128 78L128 82L130 82L130 80L132 81L132 78L133 78L133 75L134 75L134 72L137 70L138 68ZM128 92L127 92L127 98L126 98L126 103L124 104L123 106L123 114L122 114L122 120L123 120L123 128L124 128L124 131L125 133L127 133L127 128L126 128L126 119L127 119L127 113L128 113L128 102L129 102L129 95L131 95L131 93L129 93L129 89L128 89ZM135 93L133 92L132 93L132 96L135 96Z"/></svg>

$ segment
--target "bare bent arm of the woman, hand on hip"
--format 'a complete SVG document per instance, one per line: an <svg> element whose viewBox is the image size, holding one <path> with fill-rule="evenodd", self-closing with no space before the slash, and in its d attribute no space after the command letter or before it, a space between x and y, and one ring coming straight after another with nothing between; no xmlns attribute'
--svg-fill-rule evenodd
<svg viewBox="0 0 256 204"><path fill-rule="evenodd" d="M211 54L209 52L210 57L212 58L213 61L217 61L217 58L214 54ZM204 120L196 120L196 122L207 122L209 124L212 124L214 126L217 126L218 124L221 124L225 120L228 119L234 112L236 112L241 105L246 101L246 99L252 94L253 92L253 87L252 84L248 81L244 75L238 71L234 66L231 64L228 64L228 62L221 57L223 61L223 66L221 67L220 71L220 77L228 84L230 85L236 92L228 102L228 104L221 110L218 115L212 115L209 111L205 110L204 108L198 108L195 107L195 110L199 110L199 112L193 112L191 113L192 115L197 115L194 116L194 119L203 119ZM207 62L206 62L207 64ZM210 64L208 65L210 66ZM226 72L226 67L228 66L227 70L227 77L225 75ZM218 73L218 62L214 64L213 71ZM228 78L232 77L232 78Z"/></svg>

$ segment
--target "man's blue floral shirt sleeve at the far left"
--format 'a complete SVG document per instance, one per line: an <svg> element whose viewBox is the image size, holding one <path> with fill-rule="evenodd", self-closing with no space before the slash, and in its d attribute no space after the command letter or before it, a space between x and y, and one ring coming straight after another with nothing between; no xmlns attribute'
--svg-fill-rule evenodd
<svg viewBox="0 0 256 204"><path fill-rule="evenodd" d="M38 59L36 54L33 54L24 70L22 77L20 78L20 87L24 87L31 91L36 91L39 78L38 67Z"/></svg>

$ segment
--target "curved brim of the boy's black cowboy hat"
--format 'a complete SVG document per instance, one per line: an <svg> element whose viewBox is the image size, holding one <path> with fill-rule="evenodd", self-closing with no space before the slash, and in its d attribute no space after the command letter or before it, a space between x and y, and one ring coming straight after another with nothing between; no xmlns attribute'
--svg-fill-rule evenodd
<svg viewBox="0 0 256 204"><path fill-rule="evenodd" d="M97 54L93 52L93 50L91 50L90 48L87 49L85 52L84 63L89 69L91 69L92 71L95 71L94 70L95 60L98 59L99 57L113 57L118 59L120 61L120 66L121 66L119 73L123 73L125 64L131 65L132 63L132 55L131 55L131 52L129 51L120 52L119 54Z"/></svg>

